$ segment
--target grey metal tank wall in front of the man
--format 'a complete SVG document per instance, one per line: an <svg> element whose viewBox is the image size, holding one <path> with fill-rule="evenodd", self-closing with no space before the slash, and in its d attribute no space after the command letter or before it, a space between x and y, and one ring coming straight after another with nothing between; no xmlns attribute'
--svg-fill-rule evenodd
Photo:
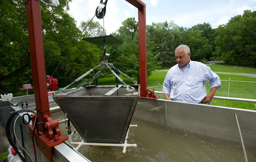
<svg viewBox="0 0 256 162"><path fill-rule="evenodd" d="M256 150L256 111L253 110L140 98L133 119L242 147L235 114L245 148Z"/></svg>

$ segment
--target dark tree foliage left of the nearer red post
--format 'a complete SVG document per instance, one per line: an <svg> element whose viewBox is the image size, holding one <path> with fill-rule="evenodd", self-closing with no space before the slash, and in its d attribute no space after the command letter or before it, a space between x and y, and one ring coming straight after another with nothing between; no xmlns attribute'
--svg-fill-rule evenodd
<svg viewBox="0 0 256 162"><path fill-rule="evenodd" d="M27 21L23 1L0 1L0 91L28 80L31 72ZM24 74L24 75L21 75Z"/></svg>

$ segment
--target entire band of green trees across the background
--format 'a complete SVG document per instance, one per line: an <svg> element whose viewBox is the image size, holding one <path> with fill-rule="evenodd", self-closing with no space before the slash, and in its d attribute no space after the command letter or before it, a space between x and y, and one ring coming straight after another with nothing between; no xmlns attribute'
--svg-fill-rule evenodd
<svg viewBox="0 0 256 162"><path fill-rule="evenodd" d="M102 61L102 47L81 38L106 33L97 21L89 23L87 20L80 28L76 27L74 18L67 13L70 1L60 0L60 6L41 3L46 73L54 74L59 87L66 86ZM249 10L216 29L209 23L189 29L172 21L147 25L148 76L160 66L176 64L174 52L179 44L189 45L194 61L223 60L228 64L255 66L255 25L256 11ZM78 39L81 31L84 32ZM124 43L108 45L108 61L128 76L139 79L138 22L128 18L112 34ZM0 0L0 58L1 92L20 95L18 88L23 84L33 85L24 0Z"/></svg>

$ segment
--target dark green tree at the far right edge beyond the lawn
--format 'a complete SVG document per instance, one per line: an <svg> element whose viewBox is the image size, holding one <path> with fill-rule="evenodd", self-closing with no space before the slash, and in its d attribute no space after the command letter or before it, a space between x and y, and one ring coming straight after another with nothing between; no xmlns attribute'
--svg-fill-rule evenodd
<svg viewBox="0 0 256 162"><path fill-rule="evenodd" d="M229 64L251 65L256 62L256 11L245 10L226 25L216 29L216 52L213 58Z"/></svg>

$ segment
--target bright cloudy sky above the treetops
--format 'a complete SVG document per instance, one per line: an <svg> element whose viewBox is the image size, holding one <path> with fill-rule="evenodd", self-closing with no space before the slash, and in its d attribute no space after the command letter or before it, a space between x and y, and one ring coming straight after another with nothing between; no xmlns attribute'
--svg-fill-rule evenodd
<svg viewBox="0 0 256 162"><path fill-rule="evenodd" d="M73 0L68 13L76 20L92 19L101 0ZM105 0L103 0L104 2ZM229 19L243 14L244 10L256 11L256 0L141 0L146 4L146 24L171 22L190 28L209 23L212 28L226 24ZM111 34L119 29L122 21L134 17L138 21L138 9L126 0L108 0L104 29ZM103 26L103 19L94 17Z"/></svg>

